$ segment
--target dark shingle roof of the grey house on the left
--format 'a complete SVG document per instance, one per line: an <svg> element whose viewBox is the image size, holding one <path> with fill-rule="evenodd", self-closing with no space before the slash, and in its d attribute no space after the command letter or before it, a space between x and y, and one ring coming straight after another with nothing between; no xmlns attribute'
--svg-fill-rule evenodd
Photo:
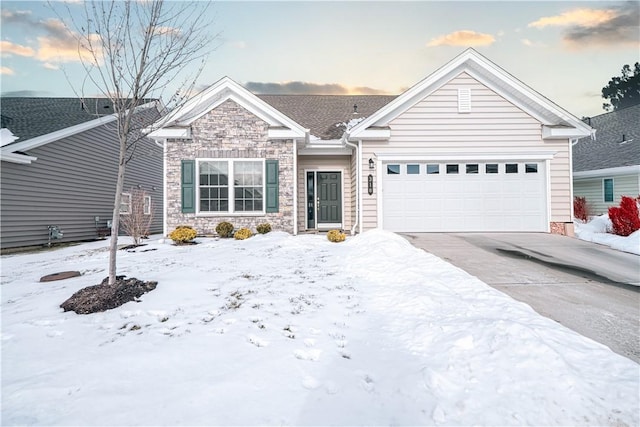
<svg viewBox="0 0 640 427"><path fill-rule="evenodd" d="M106 98L0 98L2 128L18 137L14 143L46 135L114 113Z"/></svg>

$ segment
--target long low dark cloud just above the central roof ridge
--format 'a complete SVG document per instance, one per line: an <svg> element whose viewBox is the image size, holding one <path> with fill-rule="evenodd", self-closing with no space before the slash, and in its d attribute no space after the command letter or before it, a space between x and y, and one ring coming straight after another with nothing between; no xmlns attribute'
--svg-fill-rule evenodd
<svg viewBox="0 0 640 427"><path fill-rule="evenodd" d="M347 87L337 83L310 82L263 83L247 82L244 87L259 95L385 95L387 92L366 87Z"/></svg>

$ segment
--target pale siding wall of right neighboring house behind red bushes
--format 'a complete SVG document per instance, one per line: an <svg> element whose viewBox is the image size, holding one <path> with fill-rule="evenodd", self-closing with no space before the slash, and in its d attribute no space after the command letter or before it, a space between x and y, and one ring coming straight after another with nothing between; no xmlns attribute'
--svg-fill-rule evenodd
<svg viewBox="0 0 640 427"><path fill-rule="evenodd" d="M613 179L613 202L604 201L603 180ZM609 207L619 206L622 196L638 197L640 194L640 175L606 176L598 178L574 179L573 195L585 197L589 215L607 213Z"/></svg>

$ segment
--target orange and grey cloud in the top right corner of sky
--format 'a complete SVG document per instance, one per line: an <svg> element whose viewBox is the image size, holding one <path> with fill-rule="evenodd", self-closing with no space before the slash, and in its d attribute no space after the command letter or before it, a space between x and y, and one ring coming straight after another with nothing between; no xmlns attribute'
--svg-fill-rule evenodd
<svg viewBox="0 0 640 427"><path fill-rule="evenodd" d="M565 45L571 49L591 46L640 46L640 3L630 1L608 9L574 9L556 16L548 16L529 24L529 27L566 27Z"/></svg>

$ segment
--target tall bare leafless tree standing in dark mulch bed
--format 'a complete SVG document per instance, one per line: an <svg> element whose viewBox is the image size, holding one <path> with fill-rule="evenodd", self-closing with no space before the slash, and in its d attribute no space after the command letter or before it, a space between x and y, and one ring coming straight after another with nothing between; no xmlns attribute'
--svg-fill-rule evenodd
<svg viewBox="0 0 640 427"><path fill-rule="evenodd" d="M55 10L60 3L50 3ZM58 14L78 41L78 54L86 71L81 92L91 84L113 103L120 143L118 178L115 188L109 285L116 282L116 255L120 225L120 205L127 160L141 138L139 108L163 95L169 87L169 109L186 101L205 64L211 34L205 14L208 3L165 2L163 0L85 1L82 21L68 10ZM188 65L196 71L180 76ZM176 82L181 84L176 85ZM73 86L73 82L72 82ZM77 88L74 88L77 90ZM91 88L91 90L95 90ZM115 166L115 165L114 165Z"/></svg>

